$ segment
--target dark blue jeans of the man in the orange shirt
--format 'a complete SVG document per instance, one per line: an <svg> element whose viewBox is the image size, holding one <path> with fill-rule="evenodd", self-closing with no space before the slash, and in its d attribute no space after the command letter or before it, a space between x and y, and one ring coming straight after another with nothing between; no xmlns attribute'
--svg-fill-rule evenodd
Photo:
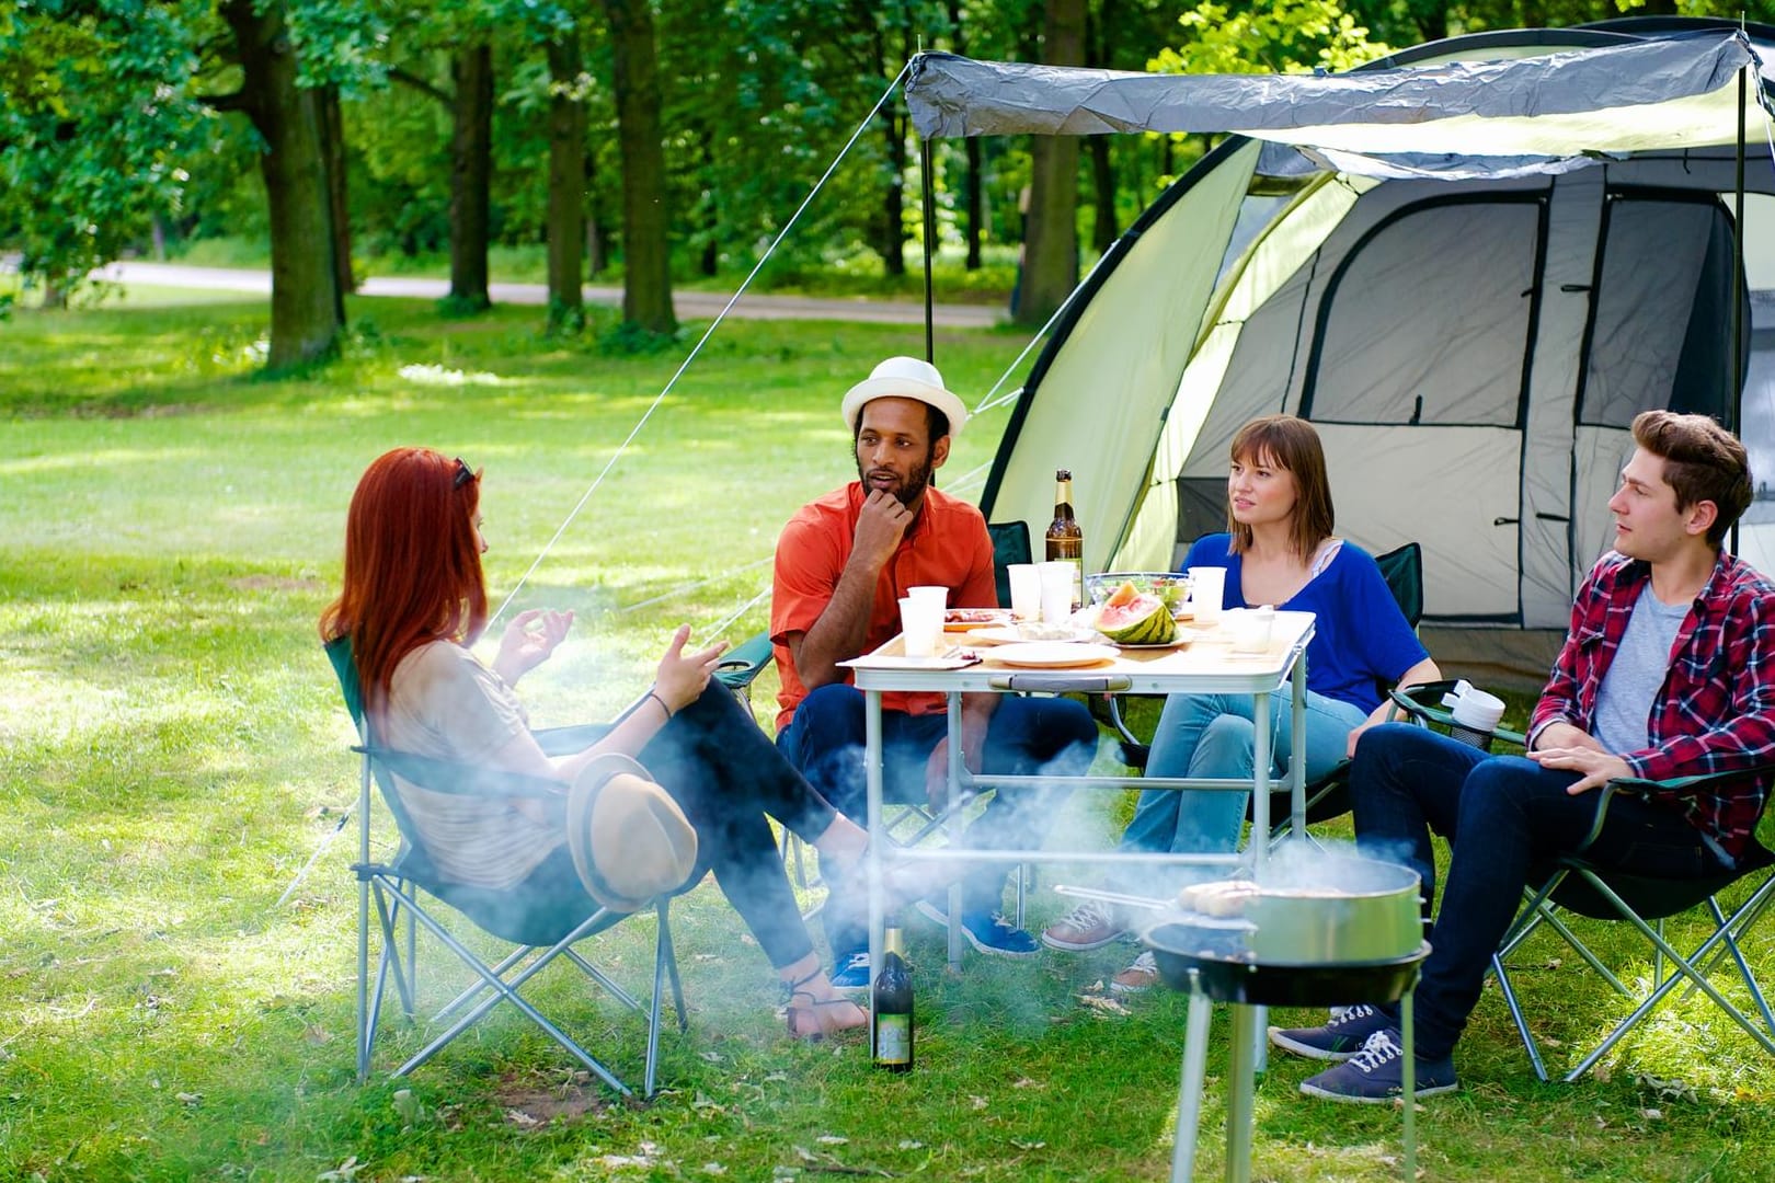
<svg viewBox="0 0 1775 1183"><path fill-rule="evenodd" d="M863 768L864 699L856 686L820 686L795 708L795 718L777 733L777 748L808 782L850 818L868 807ZM948 734L948 718L882 711L882 802L925 805L925 764ZM1001 695L987 727L982 772L1001 775L1053 773L1077 777L1097 754L1097 724L1090 711L1070 699L1026 699ZM987 809L967 827L969 846L985 850L1035 850L1047 835L1060 787L994 793ZM996 912L1005 894L1005 864L985 864L962 881L966 912ZM847 908L825 915L845 915ZM845 924L848 929L850 924ZM832 947L861 944L859 933L834 933Z"/></svg>

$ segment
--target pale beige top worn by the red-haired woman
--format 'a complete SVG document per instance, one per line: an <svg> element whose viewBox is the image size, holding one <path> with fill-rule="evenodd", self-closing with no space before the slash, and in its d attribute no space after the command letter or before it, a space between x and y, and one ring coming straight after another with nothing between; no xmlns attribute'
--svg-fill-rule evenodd
<svg viewBox="0 0 1775 1183"><path fill-rule="evenodd" d="M529 731L524 706L506 681L447 640L419 646L394 667L382 743L401 752L485 764ZM502 890L520 883L566 841L506 802L435 793L394 780L426 853L458 883Z"/></svg>

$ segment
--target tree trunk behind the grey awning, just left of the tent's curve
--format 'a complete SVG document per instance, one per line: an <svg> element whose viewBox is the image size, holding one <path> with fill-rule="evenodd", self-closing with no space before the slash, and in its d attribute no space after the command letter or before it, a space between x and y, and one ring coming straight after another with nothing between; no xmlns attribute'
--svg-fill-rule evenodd
<svg viewBox="0 0 1775 1183"><path fill-rule="evenodd" d="M1047 0L1042 60L1076 66L1085 60L1085 0ZM1040 326L1060 309L1079 277L1079 140L1038 135L1030 160L1030 218L1015 319Z"/></svg>

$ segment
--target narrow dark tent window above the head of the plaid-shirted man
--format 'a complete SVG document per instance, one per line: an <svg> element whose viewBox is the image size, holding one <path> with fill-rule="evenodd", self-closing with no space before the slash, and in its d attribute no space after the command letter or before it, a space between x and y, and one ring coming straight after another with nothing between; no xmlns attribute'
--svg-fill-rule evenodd
<svg viewBox="0 0 1775 1183"><path fill-rule="evenodd" d="M1582 424L1660 406L1727 417L1732 222L1716 200L1612 197L1594 309Z"/></svg>

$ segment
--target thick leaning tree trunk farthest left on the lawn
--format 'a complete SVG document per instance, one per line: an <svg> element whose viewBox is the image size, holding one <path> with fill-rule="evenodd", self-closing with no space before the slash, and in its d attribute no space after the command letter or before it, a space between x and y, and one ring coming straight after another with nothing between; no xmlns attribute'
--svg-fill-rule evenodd
<svg viewBox="0 0 1775 1183"><path fill-rule="evenodd" d="M296 55L280 4L225 0L241 66L241 106L264 138L259 170L272 223L272 348L282 371L339 348L339 289L316 94L296 85Z"/></svg>

